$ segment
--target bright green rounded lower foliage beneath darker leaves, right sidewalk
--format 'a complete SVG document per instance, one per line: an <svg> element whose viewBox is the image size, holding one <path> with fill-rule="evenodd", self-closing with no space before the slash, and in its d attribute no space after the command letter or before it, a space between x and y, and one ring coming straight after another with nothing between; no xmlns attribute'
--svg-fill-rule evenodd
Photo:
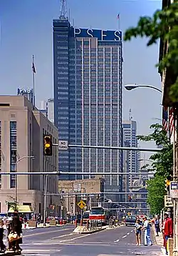
<svg viewBox="0 0 178 256"><path fill-rule="evenodd" d="M164 208L165 178L157 175L147 180L147 202L150 205L150 213L157 215Z"/></svg>

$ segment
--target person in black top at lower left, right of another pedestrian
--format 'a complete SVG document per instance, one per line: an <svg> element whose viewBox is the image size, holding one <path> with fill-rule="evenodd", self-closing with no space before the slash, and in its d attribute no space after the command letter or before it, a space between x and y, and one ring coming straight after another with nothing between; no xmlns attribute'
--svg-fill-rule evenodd
<svg viewBox="0 0 178 256"><path fill-rule="evenodd" d="M15 241L16 244L16 251L17 252L21 252L21 247L19 246L19 243L21 242L21 233L22 233L22 225L21 225L21 221L19 220L19 215L18 212L14 212L14 216L13 216L13 220L12 220L12 232L16 233L17 236L19 237L19 239L17 239Z"/></svg>

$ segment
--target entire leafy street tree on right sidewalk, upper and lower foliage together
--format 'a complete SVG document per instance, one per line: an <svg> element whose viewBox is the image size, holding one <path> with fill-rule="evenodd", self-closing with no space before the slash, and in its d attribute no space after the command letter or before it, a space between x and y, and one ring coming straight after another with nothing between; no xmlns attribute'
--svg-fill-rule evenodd
<svg viewBox="0 0 178 256"><path fill-rule="evenodd" d="M155 177L147 181L147 202L150 205L152 214L159 213L164 207L165 179L172 175L173 167L173 146L169 143L167 132L162 129L160 124L152 124L150 129L154 129L152 134L147 136L139 136L138 139L150 142L155 141L157 146L162 146L161 152L152 154L152 169L155 170Z"/></svg>

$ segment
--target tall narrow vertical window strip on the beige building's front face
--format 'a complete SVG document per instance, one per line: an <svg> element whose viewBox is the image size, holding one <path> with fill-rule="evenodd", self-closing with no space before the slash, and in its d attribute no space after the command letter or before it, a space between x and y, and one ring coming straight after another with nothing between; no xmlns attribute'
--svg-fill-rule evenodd
<svg viewBox="0 0 178 256"><path fill-rule="evenodd" d="M16 172L16 121L10 121L10 172ZM10 188L15 188L15 175L10 176Z"/></svg>

